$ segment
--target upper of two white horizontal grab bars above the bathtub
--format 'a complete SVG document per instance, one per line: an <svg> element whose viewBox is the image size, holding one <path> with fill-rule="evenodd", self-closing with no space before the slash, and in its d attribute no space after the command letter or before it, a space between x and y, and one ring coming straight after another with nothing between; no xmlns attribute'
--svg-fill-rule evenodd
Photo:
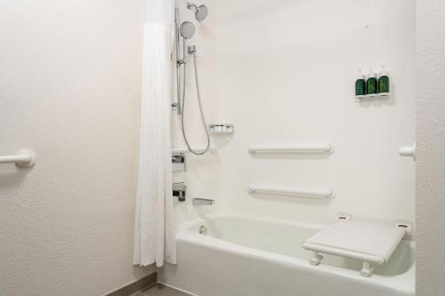
<svg viewBox="0 0 445 296"><path fill-rule="evenodd" d="M334 147L331 144L295 144L295 145L251 145L250 154L331 154Z"/></svg>

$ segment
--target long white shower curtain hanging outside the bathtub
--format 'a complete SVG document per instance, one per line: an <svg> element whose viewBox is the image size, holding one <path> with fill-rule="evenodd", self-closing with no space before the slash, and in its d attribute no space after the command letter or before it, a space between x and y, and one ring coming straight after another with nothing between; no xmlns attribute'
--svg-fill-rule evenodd
<svg viewBox="0 0 445 296"><path fill-rule="evenodd" d="M134 264L176 264L170 137L174 0L146 0Z"/></svg>

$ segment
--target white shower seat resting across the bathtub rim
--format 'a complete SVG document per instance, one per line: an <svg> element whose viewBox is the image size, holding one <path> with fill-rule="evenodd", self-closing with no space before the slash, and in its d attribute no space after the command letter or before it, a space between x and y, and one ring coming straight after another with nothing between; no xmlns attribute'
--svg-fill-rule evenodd
<svg viewBox="0 0 445 296"><path fill-rule="evenodd" d="M409 226L410 227L410 226ZM407 234L405 224L395 226L356 220L336 220L334 224L309 237L303 248L312 251L312 265L331 254L363 261L361 276L371 276L373 264L385 264Z"/></svg>

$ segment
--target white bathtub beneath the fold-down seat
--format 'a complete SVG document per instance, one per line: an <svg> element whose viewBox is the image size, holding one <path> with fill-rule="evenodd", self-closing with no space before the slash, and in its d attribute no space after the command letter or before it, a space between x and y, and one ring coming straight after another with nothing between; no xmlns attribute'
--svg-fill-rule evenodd
<svg viewBox="0 0 445 296"><path fill-rule="evenodd" d="M159 281L198 296L415 295L414 242L402 241L363 277L356 260L327 255L309 264L302 242L320 228L223 214L193 220L178 231L177 265L160 269Z"/></svg>

